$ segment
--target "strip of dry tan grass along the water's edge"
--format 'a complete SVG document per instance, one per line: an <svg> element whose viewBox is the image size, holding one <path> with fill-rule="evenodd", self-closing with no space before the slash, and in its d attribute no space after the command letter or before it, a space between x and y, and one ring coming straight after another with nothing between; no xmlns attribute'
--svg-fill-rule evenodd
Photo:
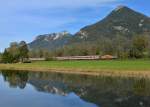
<svg viewBox="0 0 150 107"><path fill-rule="evenodd" d="M134 70L89 70L89 69L70 69L70 68L40 68L40 67L12 67L0 65L0 70L8 71L28 71L28 72L50 72L63 73L75 75L89 75L89 76L111 76L111 77L148 77L150 78L150 71L134 71Z"/></svg>

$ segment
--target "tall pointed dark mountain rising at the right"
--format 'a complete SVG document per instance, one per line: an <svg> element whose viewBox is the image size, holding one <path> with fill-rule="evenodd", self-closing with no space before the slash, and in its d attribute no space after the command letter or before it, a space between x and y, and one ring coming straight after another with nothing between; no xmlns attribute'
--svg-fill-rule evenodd
<svg viewBox="0 0 150 107"><path fill-rule="evenodd" d="M150 18L126 6L118 6L103 20L82 28L74 36L77 41L95 41L116 35L132 37L150 32ZM75 40L73 40L75 41Z"/></svg>

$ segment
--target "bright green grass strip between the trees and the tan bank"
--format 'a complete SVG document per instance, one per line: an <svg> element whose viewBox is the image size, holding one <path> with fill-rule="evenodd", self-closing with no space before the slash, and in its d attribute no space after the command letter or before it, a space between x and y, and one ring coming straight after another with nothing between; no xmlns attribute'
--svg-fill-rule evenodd
<svg viewBox="0 0 150 107"><path fill-rule="evenodd" d="M22 67L81 68L107 70L150 70L150 60L110 60L110 61L37 61L29 64L10 64Z"/></svg>

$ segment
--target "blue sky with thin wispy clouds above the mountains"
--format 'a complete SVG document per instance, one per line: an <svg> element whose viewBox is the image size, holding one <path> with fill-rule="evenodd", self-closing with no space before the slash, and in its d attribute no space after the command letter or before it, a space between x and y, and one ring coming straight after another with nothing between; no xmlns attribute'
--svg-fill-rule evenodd
<svg viewBox="0 0 150 107"><path fill-rule="evenodd" d="M40 34L74 34L118 5L150 16L150 0L0 0L0 51L10 42L29 43Z"/></svg>

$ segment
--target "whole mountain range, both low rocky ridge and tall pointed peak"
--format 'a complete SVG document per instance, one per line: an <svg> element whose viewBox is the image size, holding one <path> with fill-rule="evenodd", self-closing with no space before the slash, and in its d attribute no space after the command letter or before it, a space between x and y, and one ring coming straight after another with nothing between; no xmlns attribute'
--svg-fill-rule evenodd
<svg viewBox="0 0 150 107"><path fill-rule="evenodd" d="M74 43L101 41L103 38L124 36L128 39L139 34L150 34L150 18L126 6L118 6L103 20L82 28L75 35L68 32L38 36L29 44L31 49L56 49Z"/></svg>

